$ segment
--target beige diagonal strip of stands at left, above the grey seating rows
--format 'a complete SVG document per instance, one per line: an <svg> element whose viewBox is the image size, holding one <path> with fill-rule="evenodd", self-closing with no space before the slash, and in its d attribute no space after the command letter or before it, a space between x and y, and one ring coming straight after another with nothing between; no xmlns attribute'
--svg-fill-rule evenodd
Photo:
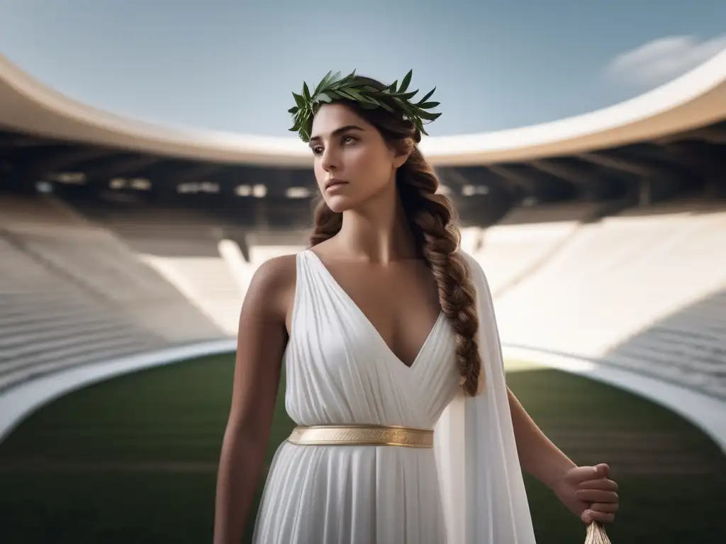
<svg viewBox="0 0 726 544"><path fill-rule="evenodd" d="M3 228L25 252L168 344L224 337L113 233L53 197L0 199Z"/></svg>

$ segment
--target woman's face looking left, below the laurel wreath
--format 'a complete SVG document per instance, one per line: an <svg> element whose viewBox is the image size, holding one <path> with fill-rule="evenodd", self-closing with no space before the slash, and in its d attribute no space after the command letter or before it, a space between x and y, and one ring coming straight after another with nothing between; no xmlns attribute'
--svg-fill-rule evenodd
<svg viewBox="0 0 726 544"><path fill-rule="evenodd" d="M313 120L315 178L334 212L354 209L395 184L397 155L370 123L343 104L325 104Z"/></svg>

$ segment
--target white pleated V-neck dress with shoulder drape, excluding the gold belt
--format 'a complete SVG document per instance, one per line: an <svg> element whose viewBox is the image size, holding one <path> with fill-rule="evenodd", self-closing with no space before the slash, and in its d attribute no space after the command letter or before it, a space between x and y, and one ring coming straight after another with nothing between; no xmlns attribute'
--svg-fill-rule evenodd
<svg viewBox="0 0 726 544"><path fill-rule="evenodd" d="M478 292L486 386L464 397L454 332L441 314L406 366L319 257L297 255L285 353L287 413L298 425L434 429L434 448L293 445L274 456L257 544L531 544L491 294Z"/></svg>

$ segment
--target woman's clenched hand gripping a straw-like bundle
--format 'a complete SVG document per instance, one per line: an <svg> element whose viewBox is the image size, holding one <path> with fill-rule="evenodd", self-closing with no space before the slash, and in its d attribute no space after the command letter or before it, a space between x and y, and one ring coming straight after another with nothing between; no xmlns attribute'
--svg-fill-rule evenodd
<svg viewBox="0 0 726 544"><path fill-rule="evenodd" d="M609 479L610 467L576 466L568 470L552 491L584 524L611 523L618 511L618 485Z"/></svg>

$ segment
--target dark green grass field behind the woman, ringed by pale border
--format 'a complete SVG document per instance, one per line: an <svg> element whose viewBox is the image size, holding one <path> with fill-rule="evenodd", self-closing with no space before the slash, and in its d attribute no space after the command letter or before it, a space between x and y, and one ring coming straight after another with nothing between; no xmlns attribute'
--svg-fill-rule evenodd
<svg viewBox="0 0 726 544"><path fill-rule="evenodd" d="M211 542L233 364L224 355L153 368L31 416L0 445L0 542ZM611 464L621 486L613 544L726 542L726 457L701 432L603 384L510 368L510 387L555 443L577 463ZM270 457L290 426L280 395ZM526 483L538 543L582 542L579 520Z"/></svg>

